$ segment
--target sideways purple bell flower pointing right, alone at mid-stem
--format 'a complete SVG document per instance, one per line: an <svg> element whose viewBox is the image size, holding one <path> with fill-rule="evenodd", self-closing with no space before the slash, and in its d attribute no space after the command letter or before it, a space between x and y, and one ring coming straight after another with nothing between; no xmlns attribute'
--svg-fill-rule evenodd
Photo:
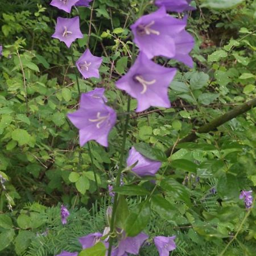
<svg viewBox="0 0 256 256"><path fill-rule="evenodd" d="M134 147L131 147L129 156L126 160L127 167L132 166L137 161L138 163L131 169L131 171L135 172L141 177L154 176L162 165L161 162L148 159L137 150L135 150Z"/></svg>

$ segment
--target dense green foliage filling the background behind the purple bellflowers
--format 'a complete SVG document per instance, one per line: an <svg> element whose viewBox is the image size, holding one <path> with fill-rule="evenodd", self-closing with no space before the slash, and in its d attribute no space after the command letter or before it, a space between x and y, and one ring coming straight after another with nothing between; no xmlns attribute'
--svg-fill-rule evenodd
<svg viewBox="0 0 256 256"><path fill-rule="evenodd" d="M105 210L111 203L106 188L117 172L127 105L114 82L130 67L129 26L141 14L143 3L150 3L96 0L90 37L91 10L73 10L73 15L79 11L85 35L75 43L73 55L78 58L89 40L93 54L104 57L101 78L80 79L81 91L105 87L109 105L118 112L110 147L92 144L99 198L88 148L79 147L77 130L66 118L79 100L72 53L51 38L56 17L65 14L49 2L1 0L0 174L7 180L6 189L0 187L1 255L76 251L77 237L102 232L107 225ZM224 255L255 255L256 210L246 212L239 195L242 189L255 192L256 109L198 134L196 142L178 145L168 160L163 153L178 138L256 94L256 2L192 4L197 10L188 14L187 30L196 40L191 53L195 67L159 58L159 63L179 68L170 86L172 108L131 113L126 152L133 144L146 143L140 144L145 154L150 145L152 154L163 160L162 171L167 168L164 177L162 171L157 176L159 189L146 232L151 237L176 235L177 249L171 255L221 255L234 237ZM147 5L144 13L153 10ZM132 100L132 110L136 105ZM130 175L124 181L130 184ZM147 180L136 184L152 190ZM143 195L130 188L122 193L132 195L126 200L131 211L136 210ZM62 203L71 209L65 228L59 216ZM147 245L140 255L157 253Z"/></svg>

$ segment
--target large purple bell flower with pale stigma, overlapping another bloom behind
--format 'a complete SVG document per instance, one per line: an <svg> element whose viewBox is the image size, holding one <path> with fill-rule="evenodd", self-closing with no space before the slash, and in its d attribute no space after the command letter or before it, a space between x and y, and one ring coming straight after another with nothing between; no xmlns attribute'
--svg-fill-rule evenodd
<svg viewBox="0 0 256 256"><path fill-rule="evenodd" d="M161 7L151 14L139 18L132 26L134 42L148 59L154 56L175 56L174 38L183 31L187 20L176 19Z"/></svg>

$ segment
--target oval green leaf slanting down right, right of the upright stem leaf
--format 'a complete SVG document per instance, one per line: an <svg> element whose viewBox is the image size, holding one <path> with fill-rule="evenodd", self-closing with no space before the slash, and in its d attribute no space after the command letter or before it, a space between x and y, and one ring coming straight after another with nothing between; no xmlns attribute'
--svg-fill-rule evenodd
<svg viewBox="0 0 256 256"><path fill-rule="evenodd" d="M166 220L172 220L177 213L176 207L159 195L152 196L151 208Z"/></svg>

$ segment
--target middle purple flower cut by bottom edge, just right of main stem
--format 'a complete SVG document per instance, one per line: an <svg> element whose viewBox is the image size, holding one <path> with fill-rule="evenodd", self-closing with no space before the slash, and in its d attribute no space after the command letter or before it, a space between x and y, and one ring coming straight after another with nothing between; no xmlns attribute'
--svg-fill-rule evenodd
<svg viewBox="0 0 256 256"><path fill-rule="evenodd" d="M123 233L125 235L125 233ZM139 254L139 249L146 241L148 236L144 233L140 233L135 237L125 237L118 243L118 247L114 249L113 255L125 256L126 253Z"/></svg>

